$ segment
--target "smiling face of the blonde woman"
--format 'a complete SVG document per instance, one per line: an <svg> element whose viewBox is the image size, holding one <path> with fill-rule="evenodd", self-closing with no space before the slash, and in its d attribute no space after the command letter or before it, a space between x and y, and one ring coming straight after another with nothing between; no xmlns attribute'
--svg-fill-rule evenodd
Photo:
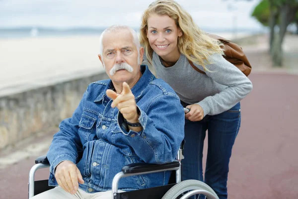
<svg viewBox="0 0 298 199"><path fill-rule="evenodd" d="M154 52L164 60L177 59L180 56L177 41L182 31L174 19L167 15L150 14L148 18L147 38Z"/></svg>

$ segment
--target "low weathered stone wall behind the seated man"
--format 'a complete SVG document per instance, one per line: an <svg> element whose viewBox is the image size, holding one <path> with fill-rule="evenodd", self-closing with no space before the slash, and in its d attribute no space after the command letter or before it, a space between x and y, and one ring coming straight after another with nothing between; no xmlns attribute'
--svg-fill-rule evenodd
<svg viewBox="0 0 298 199"><path fill-rule="evenodd" d="M0 97L0 151L71 117L88 84L105 72Z"/></svg>

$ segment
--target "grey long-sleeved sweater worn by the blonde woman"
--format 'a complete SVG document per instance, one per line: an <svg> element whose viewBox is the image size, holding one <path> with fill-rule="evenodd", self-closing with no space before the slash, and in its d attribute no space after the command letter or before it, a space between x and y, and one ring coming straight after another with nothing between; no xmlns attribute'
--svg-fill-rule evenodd
<svg viewBox="0 0 298 199"><path fill-rule="evenodd" d="M222 113L242 100L252 90L250 80L220 54L213 54L208 70L201 74L194 70L185 55L181 54L174 66L164 67L159 56L153 52L156 76L167 82L180 100L199 104L204 116ZM194 63L204 71L201 65Z"/></svg>

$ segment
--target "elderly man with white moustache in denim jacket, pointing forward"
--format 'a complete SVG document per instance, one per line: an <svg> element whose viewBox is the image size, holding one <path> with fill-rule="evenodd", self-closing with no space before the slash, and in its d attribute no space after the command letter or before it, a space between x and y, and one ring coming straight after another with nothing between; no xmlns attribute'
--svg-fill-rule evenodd
<svg viewBox="0 0 298 199"><path fill-rule="evenodd" d="M47 157L49 184L34 199L108 199L113 177L130 163L175 159L184 137L184 112L175 92L148 67L136 32L114 25L100 37L98 55L109 80L91 83L71 118L60 124ZM131 191L168 183L169 172L127 177Z"/></svg>

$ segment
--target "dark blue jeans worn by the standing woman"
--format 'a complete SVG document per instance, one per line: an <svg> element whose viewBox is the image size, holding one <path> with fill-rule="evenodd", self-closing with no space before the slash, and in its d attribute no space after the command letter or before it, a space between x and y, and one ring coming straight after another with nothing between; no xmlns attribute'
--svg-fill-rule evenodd
<svg viewBox="0 0 298 199"><path fill-rule="evenodd" d="M186 103L181 102L185 107ZM240 128L240 102L231 109L206 115L201 121L185 119L185 145L182 160L182 180L195 179L205 182L219 196L227 199L227 173L232 147ZM203 179L203 146L208 130L208 153L205 181Z"/></svg>

